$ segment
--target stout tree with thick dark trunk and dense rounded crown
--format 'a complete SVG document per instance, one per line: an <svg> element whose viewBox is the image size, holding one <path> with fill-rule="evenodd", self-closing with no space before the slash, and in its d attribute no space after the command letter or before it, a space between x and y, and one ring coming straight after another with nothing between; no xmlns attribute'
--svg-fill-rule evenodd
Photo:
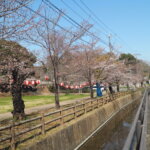
<svg viewBox="0 0 150 150"><path fill-rule="evenodd" d="M16 42L0 40L0 72L7 84L13 100L13 117L22 119L25 116L25 105L22 99L22 84L33 74L35 56Z"/></svg>

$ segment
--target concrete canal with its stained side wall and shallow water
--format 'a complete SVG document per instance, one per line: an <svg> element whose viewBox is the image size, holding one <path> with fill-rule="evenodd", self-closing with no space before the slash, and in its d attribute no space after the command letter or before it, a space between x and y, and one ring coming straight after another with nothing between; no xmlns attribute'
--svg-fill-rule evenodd
<svg viewBox="0 0 150 150"><path fill-rule="evenodd" d="M96 107L22 150L121 150L141 100L141 91ZM93 107L92 107L93 108Z"/></svg>

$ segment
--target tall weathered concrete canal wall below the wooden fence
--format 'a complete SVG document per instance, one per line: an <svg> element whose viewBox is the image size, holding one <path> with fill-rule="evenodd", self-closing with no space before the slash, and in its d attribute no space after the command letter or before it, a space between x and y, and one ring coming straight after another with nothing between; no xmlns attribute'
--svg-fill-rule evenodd
<svg viewBox="0 0 150 150"><path fill-rule="evenodd" d="M73 150L93 131L104 124L114 114L122 109L130 111L140 102L141 92L118 98L94 111L83 115L69 123L51 131L40 141L33 141L28 146L23 146L23 150ZM117 119L123 119L119 115Z"/></svg>

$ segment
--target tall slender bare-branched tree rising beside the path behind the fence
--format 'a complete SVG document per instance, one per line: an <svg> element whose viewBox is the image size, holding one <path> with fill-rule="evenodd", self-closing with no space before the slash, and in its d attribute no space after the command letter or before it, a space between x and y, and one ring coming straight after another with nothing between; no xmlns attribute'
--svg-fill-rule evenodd
<svg viewBox="0 0 150 150"><path fill-rule="evenodd" d="M76 41L91 25L84 22L79 29L65 29L59 25L62 13L50 16L49 10L45 9L43 15L41 22L31 32L26 32L25 38L28 42L39 46L46 57L47 69L53 73L56 108L59 108L59 82L63 58L68 52L77 49Z"/></svg>

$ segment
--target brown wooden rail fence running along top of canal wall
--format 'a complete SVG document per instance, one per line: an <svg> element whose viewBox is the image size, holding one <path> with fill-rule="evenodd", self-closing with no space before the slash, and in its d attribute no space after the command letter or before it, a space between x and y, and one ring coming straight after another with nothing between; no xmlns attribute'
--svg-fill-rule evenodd
<svg viewBox="0 0 150 150"><path fill-rule="evenodd" d="M113 99L127 94L129 92L115 93ZM98 99L82 101L79 104L72 104L71 107L54 112L42 113L32 119L20 122L13 121L12 124L0 128L0 149L15 150L18 144L32 138L38 138L37 135L45 135L49 130L99 108L113 99L110 96L103 96Z"/></svg>

